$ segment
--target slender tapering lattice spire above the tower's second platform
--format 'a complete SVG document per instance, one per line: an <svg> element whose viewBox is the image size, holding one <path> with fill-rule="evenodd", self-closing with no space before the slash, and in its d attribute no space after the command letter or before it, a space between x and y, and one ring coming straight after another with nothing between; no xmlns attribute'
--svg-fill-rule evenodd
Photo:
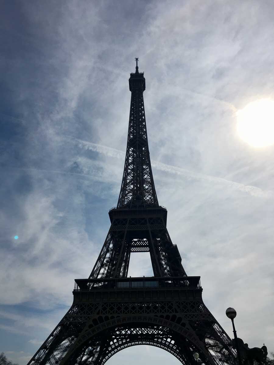
<svg viewBox="0 0 274 365"><path fill-rule="evenodd" d="M146 133L143 73L131 74L131 102L125 168L117 208L158 206Z"/></svg>

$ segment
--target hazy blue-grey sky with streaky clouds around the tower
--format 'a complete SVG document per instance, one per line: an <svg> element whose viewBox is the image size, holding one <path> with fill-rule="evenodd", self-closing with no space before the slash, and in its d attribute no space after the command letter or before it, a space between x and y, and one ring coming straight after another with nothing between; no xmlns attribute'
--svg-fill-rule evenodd
<svg viewBox="0 0 274 365"><path fill-rule="evenodd" d="M24 365L89 276L117 205L129 73L144 71L153 177L203 301L274 351L274 146L236 113L274 99L272 0L8 1L0 12L0 352ZM15 236L18 239L15 239ZM131 276L151 273L132 255ZM178 360L134 346L109 365Z"/></svg>

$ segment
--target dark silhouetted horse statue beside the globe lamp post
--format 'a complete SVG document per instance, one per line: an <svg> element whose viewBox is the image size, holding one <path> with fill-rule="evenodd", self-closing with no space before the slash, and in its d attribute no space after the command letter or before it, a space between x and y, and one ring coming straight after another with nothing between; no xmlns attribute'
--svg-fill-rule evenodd
<svg viewBox="0 0 274 365"><path fill-rule="evenodd" d="M235 339L232 340L232 345L234 348L236 347ZM237 345L240 358L244 361L244 365L254 365L254 360L258 362L259 365L266 364L267 347L265 344L261 348L252 347L252 349L250 349L248 344L244 343L244 341L238 337Z"/></svg>

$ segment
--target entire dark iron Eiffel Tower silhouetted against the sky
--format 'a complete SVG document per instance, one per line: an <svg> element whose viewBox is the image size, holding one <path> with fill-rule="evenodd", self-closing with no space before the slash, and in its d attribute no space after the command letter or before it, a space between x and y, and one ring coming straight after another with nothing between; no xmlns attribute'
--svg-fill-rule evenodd
<svg viewBox="0 0 274 365"><path fill-rule="evenodd" d="M28 364L102 365L135 345L160 347L185 365L235 364L231 339L203 303L200 277L184 271L157 200L138 58L129 90L125 168L109 232L89 278L75 280L71 308ZM152 277L128 277L132 252L149 252Z"/></svg>

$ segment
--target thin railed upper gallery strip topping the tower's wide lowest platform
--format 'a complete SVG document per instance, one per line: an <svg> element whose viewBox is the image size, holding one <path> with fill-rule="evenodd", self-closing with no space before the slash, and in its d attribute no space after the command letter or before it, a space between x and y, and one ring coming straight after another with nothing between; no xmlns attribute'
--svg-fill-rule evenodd
<svg viewBox="0 0 274 365"><path fill-rule="evenodd" d="M131 288L185 288L201 289L199 276L186 277L121 277L100 279L75 279L74 291L91 291L96 289L131 289Z"/></svg>

